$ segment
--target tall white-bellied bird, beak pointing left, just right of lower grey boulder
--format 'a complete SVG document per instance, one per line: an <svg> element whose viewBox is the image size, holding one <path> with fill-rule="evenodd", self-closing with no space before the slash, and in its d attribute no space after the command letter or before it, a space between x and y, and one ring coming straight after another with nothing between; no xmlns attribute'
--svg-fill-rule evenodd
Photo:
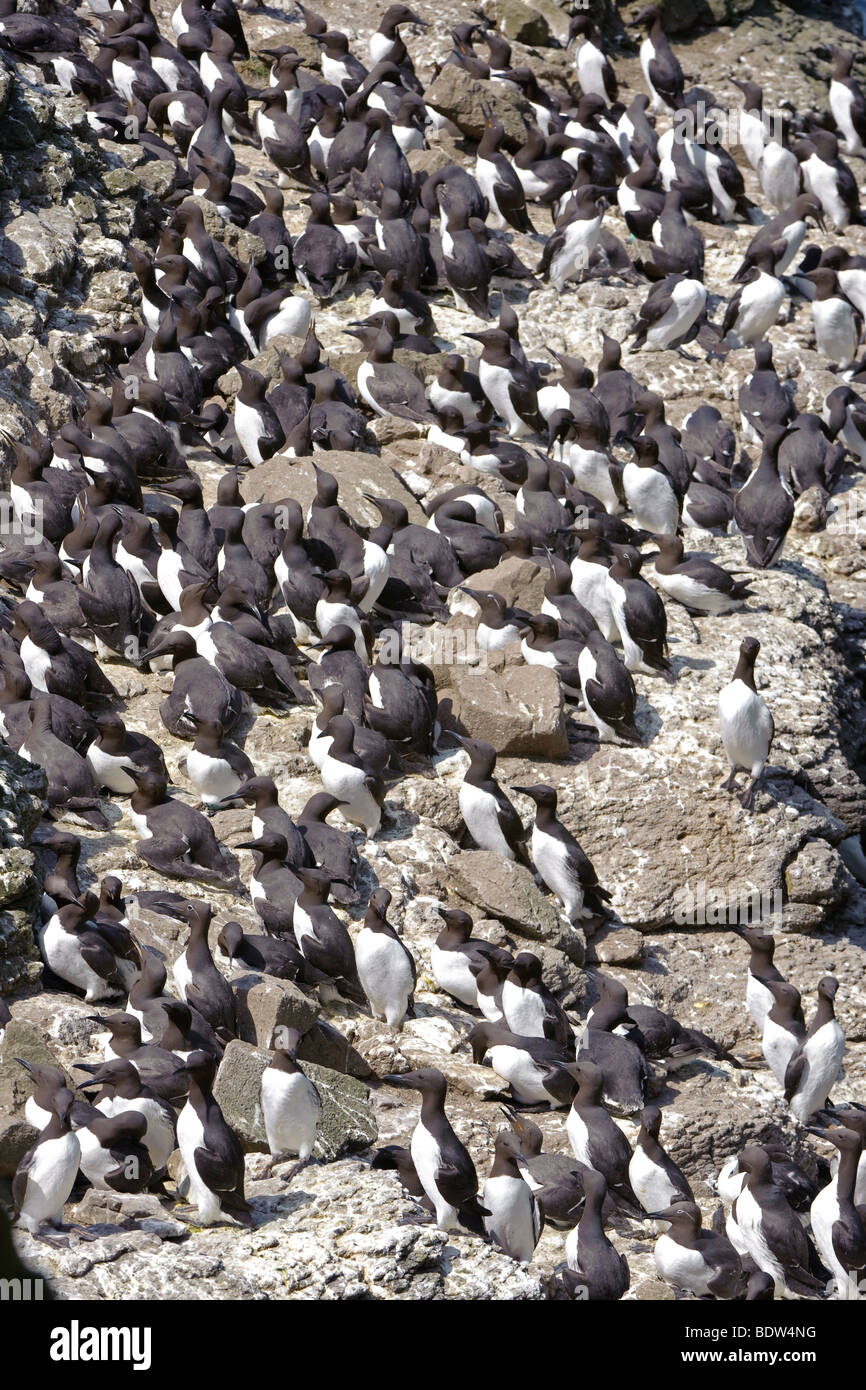
<svg viewBox="0 0 866 1390"><path fill-rule="evenodd" d="M421 1093L421 1115L410 1151L421 1187L434 1205L436 1226L439 1230L464 1226L477 1236L484 1234L484 1218L491 1212L478 1201L475 1165L445 1113L448 1081L442 1072L425 1068L382 1080L386 1086Z"/></svg>

